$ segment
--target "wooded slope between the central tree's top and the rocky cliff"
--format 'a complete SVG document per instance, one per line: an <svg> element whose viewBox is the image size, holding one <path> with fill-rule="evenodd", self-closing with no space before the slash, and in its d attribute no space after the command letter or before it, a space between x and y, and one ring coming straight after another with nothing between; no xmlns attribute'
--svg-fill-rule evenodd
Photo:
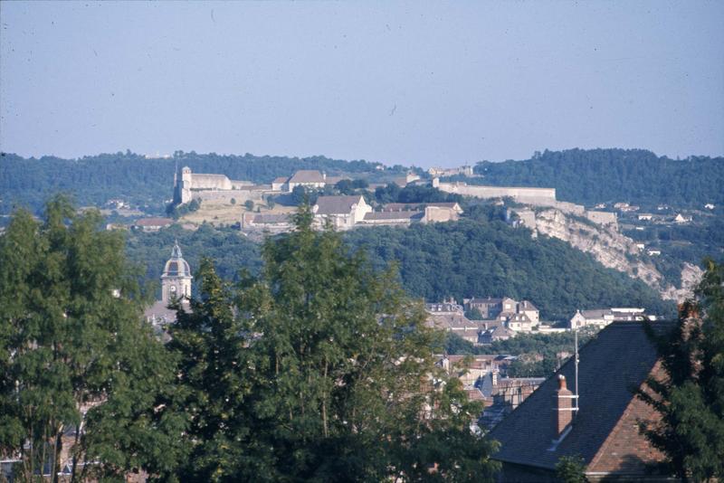
<svg viewBox="0 0 724 483"><path fill-rule="evenodd" d="M396 261L407 291L426 300L452 296L526 298L548 320L567 320L577 308L644 307L672 314L671 303L640 280L606 269L566 242L530 238L502 222L461 220L349 232L377 267Z"/></svg>

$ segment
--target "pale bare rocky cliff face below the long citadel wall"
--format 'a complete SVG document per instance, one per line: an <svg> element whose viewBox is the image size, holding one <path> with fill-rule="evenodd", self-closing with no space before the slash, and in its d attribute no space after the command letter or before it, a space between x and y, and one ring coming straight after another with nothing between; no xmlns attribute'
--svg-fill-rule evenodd
<svg viewBox="0 0 724 483"><path fill-rule="evenodd" d="M681 301L691 297L691 290L701 278L701 270L687 263L681 273L681 289L665 284L659 270L639 257L635 242L610 225L596 225L556 209L535 213L535 228L530 226L530 220L524 224L533 229L534 236L539 233L556 237L580 251L591 253L605 267L642 279L661 293L662 298Z"/></svg>

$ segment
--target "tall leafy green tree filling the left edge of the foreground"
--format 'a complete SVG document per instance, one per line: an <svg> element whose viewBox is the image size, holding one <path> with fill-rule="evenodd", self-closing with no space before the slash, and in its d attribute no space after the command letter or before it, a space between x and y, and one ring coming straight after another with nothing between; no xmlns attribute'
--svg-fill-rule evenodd
<svg viewBox="0 0 724 483"><path fill-rule="evenodd" d="M163 466L181 432L151 421L173 365L100 222L58 197L0 237L0 453L21 479L56 480L66 452L72 480Z"/></svg>

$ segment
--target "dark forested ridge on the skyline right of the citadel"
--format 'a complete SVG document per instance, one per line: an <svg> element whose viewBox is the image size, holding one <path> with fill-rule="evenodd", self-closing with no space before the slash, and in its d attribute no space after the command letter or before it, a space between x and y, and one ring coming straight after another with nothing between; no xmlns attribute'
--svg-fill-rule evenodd
<svg viewBox="0 0 724 483"><path fill-rule="evenodd" d="M544 151L524 161L475 166L480 185L547 186L578 204L628 202L698 207L724 204L724 158L670 159L644 149Z"/></svg>

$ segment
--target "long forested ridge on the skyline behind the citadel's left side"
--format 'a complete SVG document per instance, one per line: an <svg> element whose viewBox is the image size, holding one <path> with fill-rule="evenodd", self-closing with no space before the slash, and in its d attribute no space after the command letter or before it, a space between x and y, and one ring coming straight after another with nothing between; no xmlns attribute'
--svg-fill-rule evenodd
<svg viewBox="0 0 724 483"><path fill-rule="evenodd" d="M172 158L147 159L126 153L62 159L55 156L24 158L2 153L0 156L0 214L8 214L20 204L39 213L47 197L62 191L75 196L81 205L101 206L111 198L121 198L145 207L148 213L163 213L165 201L173 197L175 166L189 166L196 173L222 173L231 179L271 183L278 176L298 169L339 173L403 174L406 168L395 166L384 172L376 163L340 161L324 156L223 156L178 151Z"/></svg>

